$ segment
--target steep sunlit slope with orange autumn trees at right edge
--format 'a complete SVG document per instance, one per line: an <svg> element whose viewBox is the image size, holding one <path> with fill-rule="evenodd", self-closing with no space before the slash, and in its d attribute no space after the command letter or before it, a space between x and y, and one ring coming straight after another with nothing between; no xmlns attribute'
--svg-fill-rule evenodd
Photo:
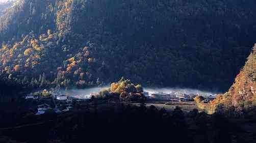
<svg viewBox="0 0 256 143"><path fill-rule="evenodd" d="M235 83L228 92L219 96L211 105L222 107L226 110L234 109L243 111L244 109L254 109L256 107L256 44L249 55L244 68L235 79Z"/></svg>

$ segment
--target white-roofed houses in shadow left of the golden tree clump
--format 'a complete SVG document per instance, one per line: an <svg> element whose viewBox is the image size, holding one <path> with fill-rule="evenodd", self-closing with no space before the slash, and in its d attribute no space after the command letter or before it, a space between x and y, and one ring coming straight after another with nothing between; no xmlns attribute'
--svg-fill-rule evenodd
<svg viewBox="0 0 256 143"><path fill-rule="evenodd" d="M73 108L74 101L77 102L83 102L83 101L89 101L93 94L84 95L84 96L66 96L66 95L52 95L47 98L40 97L40 96L33 96L29 94L28 96L25 96L24 98L29 100L36 100L40 101L40 105L37 105L37 112L36 115L44 114L46 111L54 111L55 113L61 113L70 111ZM52 101L53 105L47 104L50 101Z"/></svg>

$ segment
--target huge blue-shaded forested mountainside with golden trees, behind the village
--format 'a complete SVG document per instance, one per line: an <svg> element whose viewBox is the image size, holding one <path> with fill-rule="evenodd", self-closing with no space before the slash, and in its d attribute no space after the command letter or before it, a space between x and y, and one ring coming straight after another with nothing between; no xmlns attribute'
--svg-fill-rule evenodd
<svg viewBox="0 0 256 143"><path fill-rule="evenodd" d="M86 87L125 76L225 90L254 43L255 4L18 0L0 19L0 67L35 87Z"/></svg>

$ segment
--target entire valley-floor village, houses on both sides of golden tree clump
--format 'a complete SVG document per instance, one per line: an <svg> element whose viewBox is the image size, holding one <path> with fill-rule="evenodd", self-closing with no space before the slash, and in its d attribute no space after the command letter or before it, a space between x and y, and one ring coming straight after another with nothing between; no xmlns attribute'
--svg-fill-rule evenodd
<svg viewBox="0 0 256 143"><path fill-rule="evenodd" d="M147 92L144 91L142 94L146 97L146 103L148 105L151 104L159 104L161 103L161 107L164 107L163 105L173 105L173 103L181 104L181 103L193 103L194 105L194 98L196 96L202 96L204 98L203 103L209 103L210 101L214 100L216 98L216 94L194 94L194 93L182 93L182 92L174 92L171 91L169 93L165 93L162 91L159 92ZM26 100L33 100L36 102L37 107L35 107L35 115L41 115L44 114L47 111L53 111L57 114L60 114L62 112L67 112L74 110L75 104L85 105L89 106L92 104L92 98L94 98L95 93L90 94L82 94L82 95L68 95L68 94L62 94L62 95L49 95L47 97L44 96L34 96L33 94L28 94L24 98ZM115 103L114 101L112 101ZM104 103L104 102L102 102Z"/></svg>

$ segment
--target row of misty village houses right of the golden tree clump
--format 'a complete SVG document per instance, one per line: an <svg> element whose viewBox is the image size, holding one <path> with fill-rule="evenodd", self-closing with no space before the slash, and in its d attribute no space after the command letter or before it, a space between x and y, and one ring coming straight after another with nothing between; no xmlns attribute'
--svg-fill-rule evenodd
<svg viewBox="0 0 256 143"><path fill-rule="evenodd" d="M198 94L186 94L186 93L180 93L180 92L171 92L171 93L164 93L164 92L156 92L156 93L148 93L148 92L143 92L143 94L148 98L148 99L153 99L153 100L159 100L159 101L193 101L193 99L198 96ZM216 98L216 94L214 95L204 95L205 98L204 102L208 103Z"/></svg>

